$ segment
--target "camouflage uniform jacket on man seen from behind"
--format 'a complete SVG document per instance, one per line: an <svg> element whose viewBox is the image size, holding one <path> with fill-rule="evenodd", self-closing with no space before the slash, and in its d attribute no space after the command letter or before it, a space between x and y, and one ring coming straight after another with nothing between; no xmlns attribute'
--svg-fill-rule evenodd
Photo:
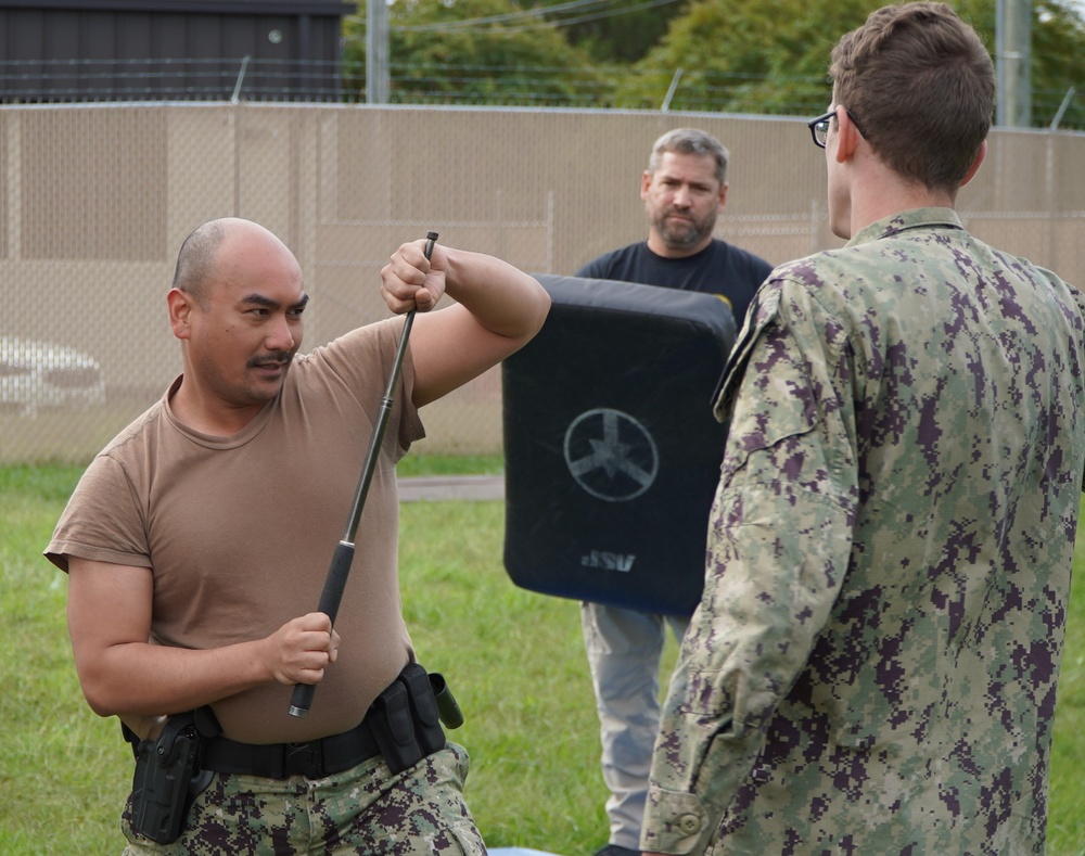
<svg viewBox="0 0 1085 856"><path fill-rule="evenodd" d="M716 405L646 851L1043 852L1083 312L948 208L773 272Z"/></svg>

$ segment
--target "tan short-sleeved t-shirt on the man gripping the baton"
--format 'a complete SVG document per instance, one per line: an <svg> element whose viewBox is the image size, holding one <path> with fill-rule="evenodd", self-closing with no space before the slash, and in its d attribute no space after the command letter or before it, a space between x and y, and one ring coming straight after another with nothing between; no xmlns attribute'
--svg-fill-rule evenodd
<svg viewBox="0 0 1085 856"><path fill-rule="evenodd" d="M87 469L46 555L64 571L68 555L150 567L151 635L161 644L259 639L315 611L401 329L401 319L388 319L295 358L281 394L230 437L179 423L167 392ZM345 731L411 657L397 579L395 464L424 436L412 388L408 352L335 622L339 660L309 715L288 714L291 687L266 685L214 705L227 737L278 743Z"/></svg>

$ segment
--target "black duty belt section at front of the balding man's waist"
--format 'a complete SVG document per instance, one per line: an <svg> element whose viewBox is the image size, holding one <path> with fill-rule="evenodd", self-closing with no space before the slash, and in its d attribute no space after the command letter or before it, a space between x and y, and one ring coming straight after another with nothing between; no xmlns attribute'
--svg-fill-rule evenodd
<svg viewBox="0 0 1085 856"><path fill-rule="evenodd" d="M266 779L322 779L380 754L376 739L362 721L342 734L305 743L239 743L225 737L212 738L204 744L202 766L216 772Z"/></svg>

